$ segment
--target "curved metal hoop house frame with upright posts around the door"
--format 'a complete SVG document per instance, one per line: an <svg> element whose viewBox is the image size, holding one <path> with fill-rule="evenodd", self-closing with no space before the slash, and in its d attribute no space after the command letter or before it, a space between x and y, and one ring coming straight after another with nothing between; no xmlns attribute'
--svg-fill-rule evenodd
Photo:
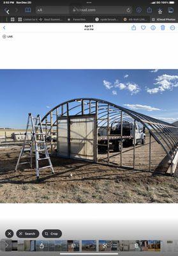
<svg viewBox="0 0 178 256"><path fill-rule="evenodd" d="M98 129L107 127L107 136L109 136L110 125L113 122L121 122L121 166L122 166L122 124L123 122L132 122L135 126L147 129L149 132L149 170L151 170L151 137L161 145L170 163L170 173L175 172L178 159L178 127L163 122L151 116L137 113L136 111L122 108L106 100L83 98L71 99L57 105L48 111L41 122L45 128L46 136L50 136L51 153L54 152L56 143L56 134L58 134L57 120L59 117L69 116L96 116L96 163L98 162ZM134 126L134 127L135 127ZM134 129L135 130L135 129ZM134 131L135 132L135 131ZM135 137L134 137L135 138ZM109 140L108 140L109 141ZM109 144L109 142L108 142ZM133 168L135 169L135 145L133 141ZM109 147L109 145L108 145ZM110 153L107 152L107 163L110 163Z"/></svg>

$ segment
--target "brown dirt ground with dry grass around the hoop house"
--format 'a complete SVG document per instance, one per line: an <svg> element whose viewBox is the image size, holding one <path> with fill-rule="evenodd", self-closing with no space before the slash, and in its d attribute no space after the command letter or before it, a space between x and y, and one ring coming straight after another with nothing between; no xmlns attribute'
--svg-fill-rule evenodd
<svg viewBox="0 0 178 256"><path fill-rule="evenodd" d="M141 154L142 150L139 148L138 145L137 150ZM131 148L124 150L131 154ZM34 169L29 169L28 165L23 165L20 171L14 172L19 153L19 146L0 147L1 203L178 202L177 179L161 172L51 157L55 174L52 175L48 169L43 170L40 180L36 181ZM105 157L105 154L100 157ZM130 159L126 164L132 163L131 157L124 157L125 162ZM147 166L147 157L142 159ZM136 160L139 166L139 154ZM154 165L154 159L152 161Z"/></svg>

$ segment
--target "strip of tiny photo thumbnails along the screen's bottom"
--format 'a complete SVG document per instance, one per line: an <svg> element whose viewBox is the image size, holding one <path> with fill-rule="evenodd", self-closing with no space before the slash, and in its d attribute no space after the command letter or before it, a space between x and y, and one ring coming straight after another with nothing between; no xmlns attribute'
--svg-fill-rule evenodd
<svg viewBox="0 0 178 256"><path fill-rule="evenodd" d="M178 252L178 241L158 240L3 239L0 245L2 252Z"/></svg>

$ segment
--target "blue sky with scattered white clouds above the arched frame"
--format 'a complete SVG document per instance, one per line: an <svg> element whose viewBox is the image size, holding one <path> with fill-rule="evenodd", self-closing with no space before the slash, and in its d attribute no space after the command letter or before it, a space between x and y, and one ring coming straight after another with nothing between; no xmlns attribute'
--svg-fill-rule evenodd
<svg viewBox="0 0 178 256"><path fill-rule="evenodd" d="M27 113L80 97L178 120L178 70L0 70L0 95L0 127L24 128Z"/></svg>

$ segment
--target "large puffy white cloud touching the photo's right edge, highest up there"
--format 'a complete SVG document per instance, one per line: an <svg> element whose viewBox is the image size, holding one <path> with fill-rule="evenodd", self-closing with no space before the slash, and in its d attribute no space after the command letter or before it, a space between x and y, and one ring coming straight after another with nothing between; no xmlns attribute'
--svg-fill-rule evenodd
<svg viewBox="0 0 178 256"><path fill-rule="evenodd" d="M147 92L150 94L163 93L165 91L172 91L175 87L178 87L178 76L170 76L167 74L158 76L156 79L156 87L147 88Z"/></svg>

